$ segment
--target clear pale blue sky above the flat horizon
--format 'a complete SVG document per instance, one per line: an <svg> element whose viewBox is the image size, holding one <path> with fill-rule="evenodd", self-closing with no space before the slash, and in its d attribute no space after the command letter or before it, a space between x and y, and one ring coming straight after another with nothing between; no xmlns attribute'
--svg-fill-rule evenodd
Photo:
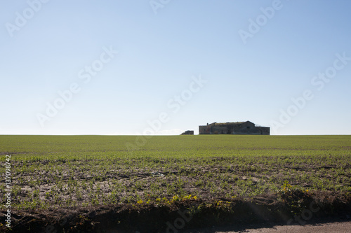
<svg viewBox="0 0 351 233"><path fill-rule="evenodd" d="M0 134L351 133L351 1L162 2L1 1Z"/></svg>

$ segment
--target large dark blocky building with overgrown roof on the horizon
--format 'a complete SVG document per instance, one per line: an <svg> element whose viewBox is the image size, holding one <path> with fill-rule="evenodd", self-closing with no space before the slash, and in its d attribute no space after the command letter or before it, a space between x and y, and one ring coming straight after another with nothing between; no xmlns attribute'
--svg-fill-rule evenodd
<svg viewBox="0 0 351 233"><path fill-rule="evenodd" d="M249 120L246 122L227 122L200 125L199 134L260 134L270 135L270 127L256 126Z"/></svg>

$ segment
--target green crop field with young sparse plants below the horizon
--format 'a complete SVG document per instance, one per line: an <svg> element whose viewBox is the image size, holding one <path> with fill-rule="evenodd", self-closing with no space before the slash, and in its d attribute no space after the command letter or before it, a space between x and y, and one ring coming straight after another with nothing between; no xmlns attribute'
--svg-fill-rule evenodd
<svg viewBox="0 0 351 233"><path fill-rule="evenodd" d="M218 207L255 197L279 201L291 190L350 197L351 136L135 139L142 137L0 136L2 176L11 155L11 209L171 209L182 202ZM0 193L4 212L5 185Z"/></svg>

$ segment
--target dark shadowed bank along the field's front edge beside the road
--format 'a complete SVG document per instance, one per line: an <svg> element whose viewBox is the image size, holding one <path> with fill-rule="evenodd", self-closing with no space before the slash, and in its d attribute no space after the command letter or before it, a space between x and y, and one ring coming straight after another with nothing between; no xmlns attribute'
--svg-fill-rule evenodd
<svg viewBox="0 0 351 233"><path fill-rule="evenodd" d="M5 213L1 211L0 223L5 223ZM266 195L234 200L188 199L168 205L118 204L76 209L13 210L11 230L5 225L1 225L0 230L39 233L240 232L274 225L350 221L350 216L349 193L309 194L293 190L279 197Z"/></svg>

